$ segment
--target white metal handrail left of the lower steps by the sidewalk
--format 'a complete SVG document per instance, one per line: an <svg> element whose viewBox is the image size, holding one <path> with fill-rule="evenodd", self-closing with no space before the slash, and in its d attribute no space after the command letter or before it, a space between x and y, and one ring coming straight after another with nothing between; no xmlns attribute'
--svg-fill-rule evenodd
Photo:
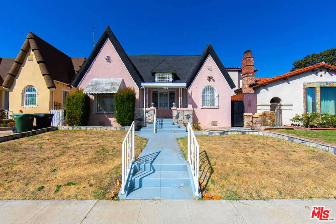
<svg viewBox="0 0 336 224"><path fill-rule="evenodd" d="M125 194L126 181L128 179L132 163L134 162L134 121L129 127L122 144L122 173L121 194Z"/></svg>

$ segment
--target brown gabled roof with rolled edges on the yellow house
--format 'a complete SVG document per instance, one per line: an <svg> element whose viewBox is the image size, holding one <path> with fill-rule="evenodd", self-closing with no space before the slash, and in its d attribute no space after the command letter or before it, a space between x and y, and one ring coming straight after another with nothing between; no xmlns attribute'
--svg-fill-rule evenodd
<svg viewBox="0 0 336 224"><path fill-rule="evenodd" d="M11 87L30 48L34 52L48 89L56 88L54 80L70 85L76 76L75 69L80 70L79 65L82 61L85 61L85 58L75 58L73 60L35 34L29 33L3 82L3 87Z"/></svg>

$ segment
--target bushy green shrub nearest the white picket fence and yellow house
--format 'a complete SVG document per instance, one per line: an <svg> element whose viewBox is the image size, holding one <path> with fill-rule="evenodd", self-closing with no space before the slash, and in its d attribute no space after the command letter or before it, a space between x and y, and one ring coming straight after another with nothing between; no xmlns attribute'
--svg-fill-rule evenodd
<svg viewBox="0 0 336 224"><path fill-rule="evenodd" d="M90 97L76 89L65 99L66 120L70 126L86 126L90 116Z"/></svg>

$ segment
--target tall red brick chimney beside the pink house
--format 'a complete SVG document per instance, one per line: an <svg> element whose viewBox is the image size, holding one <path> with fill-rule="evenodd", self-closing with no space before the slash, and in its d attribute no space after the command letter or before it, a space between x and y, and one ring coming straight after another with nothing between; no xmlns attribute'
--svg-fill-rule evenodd
<svg viewBox="0 0 336 224"><path fill-rule="evenodd" d="M242 83L243 93L254 93L254 90L249 87L254 83L254 57L252 57L250 50L244 52L242 60Z"/></svg>

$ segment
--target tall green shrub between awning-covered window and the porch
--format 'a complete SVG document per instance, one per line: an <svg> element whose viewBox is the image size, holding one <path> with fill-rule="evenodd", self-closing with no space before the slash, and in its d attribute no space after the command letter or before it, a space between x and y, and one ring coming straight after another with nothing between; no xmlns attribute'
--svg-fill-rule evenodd
<svg viewBox="0 0 336 224"><path fill-rule="evenodd" d="M121 126L130 126L134 120L135 90L127 87L114 96L116 122Z"/></svg>

